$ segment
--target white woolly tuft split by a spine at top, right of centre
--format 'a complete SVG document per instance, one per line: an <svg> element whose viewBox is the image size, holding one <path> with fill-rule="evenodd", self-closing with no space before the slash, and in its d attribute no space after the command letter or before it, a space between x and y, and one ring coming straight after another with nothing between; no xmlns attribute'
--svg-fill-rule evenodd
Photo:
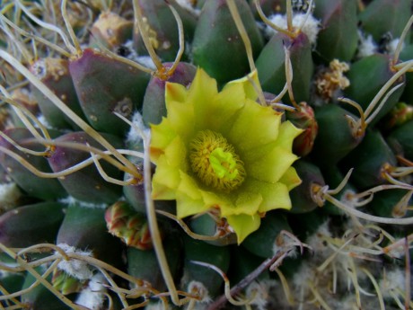
<svg viewBox="0 0 413 310"><path fill-rule="evenodd" d="M286 15L274 14L271 15L268 19L280 28L287 28ZM298 27L301 27L302 24L303 27L301 31L305 33L310 43L315 44L317 35L320 31L320 21L312 16L312 14L310 14L306 19L305 13L295 13L293 16L293 27L297 29ZM277 31L267 26L265 33L268 37L271 37L273 34L277 33Z"/></svg>

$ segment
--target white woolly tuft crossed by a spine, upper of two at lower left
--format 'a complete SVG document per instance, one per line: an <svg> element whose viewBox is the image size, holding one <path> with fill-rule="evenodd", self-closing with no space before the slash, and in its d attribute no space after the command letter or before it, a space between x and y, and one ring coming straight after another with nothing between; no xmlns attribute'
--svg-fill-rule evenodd
<svg viewBox="0 0 413 310"><path fill-rule="evenodd" d="M57 246L66 253L76 253L82 256L92 256L92 252L76 249L75 246L68 244L57 244ZM56 252L56 254L61 256L59 252ZM61 257L63 258L63 261L60 261L57 265L57 268L59 270L65 271L68 275L75 277L76 279L92 279L92 270L90 269L87 262L75 259L66 261L63 256Z"/></svg>

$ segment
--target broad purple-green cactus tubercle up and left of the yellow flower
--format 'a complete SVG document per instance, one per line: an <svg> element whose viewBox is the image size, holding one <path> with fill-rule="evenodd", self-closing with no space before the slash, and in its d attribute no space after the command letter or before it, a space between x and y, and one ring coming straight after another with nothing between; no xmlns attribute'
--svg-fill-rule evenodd
<svg viewBox="0 0 413 310"><path fill-rule="evenodd" d="M149 75L92 49L85 49L80 58L72 60L69 70L92 127L114 135L125 134L127 124L113 111L130 119L136 109L141 109Z"/></svg>

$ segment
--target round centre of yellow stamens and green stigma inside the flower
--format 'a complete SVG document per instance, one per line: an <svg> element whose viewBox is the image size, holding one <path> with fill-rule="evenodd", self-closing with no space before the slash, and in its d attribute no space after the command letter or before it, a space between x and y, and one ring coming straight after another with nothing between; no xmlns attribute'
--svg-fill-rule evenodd
<svg viewBox="0 0 413 310"><path fill-rule="evenodd" d="M245 179L240 157L223 135L203 130L190 142L189 162L199 180L216 190L234 190Z"/></svg>

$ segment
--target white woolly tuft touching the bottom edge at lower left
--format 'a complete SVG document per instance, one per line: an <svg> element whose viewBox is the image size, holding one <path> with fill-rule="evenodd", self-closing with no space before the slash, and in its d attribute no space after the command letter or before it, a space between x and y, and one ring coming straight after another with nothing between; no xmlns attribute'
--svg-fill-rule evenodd
<svg viewBox="0 0 413 310"><path fill-rule="evenodd" d="M89 281L87 288L84 288L76 298L75 304L84 306L91 310L102 309L103 302L105 301L106 288L103 284L106 281L101 273L95 274Z"/></svg>

